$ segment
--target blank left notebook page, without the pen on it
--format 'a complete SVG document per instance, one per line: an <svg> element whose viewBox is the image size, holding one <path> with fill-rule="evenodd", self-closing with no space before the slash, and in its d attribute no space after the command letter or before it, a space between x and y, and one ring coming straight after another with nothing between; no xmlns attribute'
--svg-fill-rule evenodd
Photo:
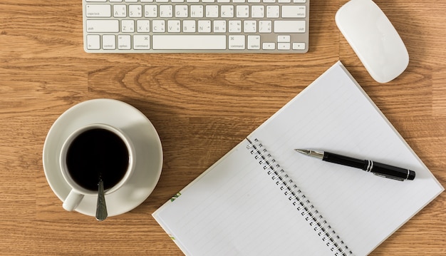
<svg viewBox="0 0 446 256"><path fill-rule="evenodd" d="M185 255L333 255L244 140L154 213Z"/></svg>

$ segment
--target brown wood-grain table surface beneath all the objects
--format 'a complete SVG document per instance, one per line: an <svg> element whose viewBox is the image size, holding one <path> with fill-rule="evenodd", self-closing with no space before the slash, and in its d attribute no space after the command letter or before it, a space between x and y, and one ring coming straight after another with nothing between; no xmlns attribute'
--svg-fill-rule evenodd
<svg viewBox="0 0 446 256"><path fill-rule="evenodd" d="M410 55L386 84L336 28L345 2L311 0L305 54L93 54L81 0L1 0L0 255L182 255L151 213L338 60L446 186L446 2L375 1ZM164 151L150 197L104 222L63 210L42 164L56 118L92 98L138 108ZM442 193L372 255L446 255L445 206Z"/></svg>

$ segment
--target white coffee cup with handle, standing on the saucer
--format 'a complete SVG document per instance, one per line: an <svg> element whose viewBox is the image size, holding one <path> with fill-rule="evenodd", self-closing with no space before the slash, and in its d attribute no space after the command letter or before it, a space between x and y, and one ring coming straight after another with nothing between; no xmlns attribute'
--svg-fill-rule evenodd
<svg viewBox="0 0 446 256"><path fill-rule="evenodd" d="M93 139L88 140L87 138ZM123 145L118 142L119 140ZM93 143L93 141L95 141L95 143ZM102 141L105 141L105 143L101 143ZM113 141L114 143L108 145L108 141ZM95 145L94 147L93 144ZM108 145L108 147L105 145ZM97 161L95 161L95 158L96 151L98 150L95 151L92 149L96 146L100 149L99 151L105 150L104 152L98 153ZM126 155L123 148L125 148L128 154L128 163L125 163ZM115 151L120 151L118 157L116 157ZM76 152L79 154L76 154ZM104 154L107 153L109 153L108 155L110 155L111 158L104 159ZM105 156L108 157L108 155ZM115 157L113 158L113 156ZM118 161L117 159L119 159L119 164L113 165L113 163ZM105 195L113 193L121 188L129 180L135 170L135 148L130 138L128 138L128 135L125 135L119 128L103 123L95 123L78 128L78 130L75 130L68 136L62 145L59 160L63 178L71 187L70 193L63 201L63 208L72 211L76 210L85 195L98 195L97 186L95 189L92 186L93 183L97 184L99 182L99 177L94 178L95 175L93 175L95 171L93 166L95 165L111 165L111 167L104 168L104 170L102 168L98 170L101 177L103 176L104 184L106 184L108 180L113 180L113 184L109 184L110 188L105 188ZM90 162L88 162L88 160ZM85 162L90 163L90 165ZM110 164L108 162L110 162ZM82 165L84 165L85 168L82 168ZM107 180L107 178L110 177L111 172L114 172L115 169L120 169L119 175L113 175L113 179L109 178ZM79 179L84 170L86 178ZM91 175L89 175L89 173L91 173ZM85 186L87 184L90 184L88 188Z"/></svg>

